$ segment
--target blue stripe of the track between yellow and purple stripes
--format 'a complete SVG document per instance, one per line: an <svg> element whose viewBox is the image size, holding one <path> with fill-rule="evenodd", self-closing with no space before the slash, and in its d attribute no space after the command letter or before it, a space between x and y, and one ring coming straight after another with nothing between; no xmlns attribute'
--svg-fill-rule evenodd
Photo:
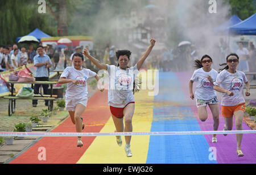
<svg viewBox="0 0 256 175"><path fill-rule="evenodd" d="M199 123L172 72L159 73L159 94L154 98L151 132L200 131ZM213 163L204 135L150 136L148 164ZM210 156L211 158L212 156Z"/></svg>

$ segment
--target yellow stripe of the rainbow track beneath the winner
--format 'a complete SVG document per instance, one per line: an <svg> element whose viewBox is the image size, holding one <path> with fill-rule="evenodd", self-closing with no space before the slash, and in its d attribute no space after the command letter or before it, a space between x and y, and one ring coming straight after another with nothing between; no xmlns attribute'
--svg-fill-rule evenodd
<svg viewBox="0 0 256 175"><path fill-rule="evenodd" d="M148 91L135 94L135 111L133 116L134 132L150 132L153 115L154 96ZM112 117L102 128L101 133L112 133L115 130ZM125 137L119 147L115 136L97 136L77 164L145 164L147 160L150 136L132 136L131 152L133 157L126 157ZM85 141L83 141L86 144Z"/></svg>

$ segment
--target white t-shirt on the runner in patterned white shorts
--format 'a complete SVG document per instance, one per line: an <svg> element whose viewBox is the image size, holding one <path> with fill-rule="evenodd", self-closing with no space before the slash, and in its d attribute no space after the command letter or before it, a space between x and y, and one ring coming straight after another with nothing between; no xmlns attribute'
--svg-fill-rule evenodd
<svg viewBox="0 0 256 175"><path fill-rule="evenodd" d="M213 84L208 80L208 75L215 82L218 72L214 69L205 72L203 67L194 71L191 80L196 83L196 99L210 100L216 96L216 91L213 89Z"/></svg>

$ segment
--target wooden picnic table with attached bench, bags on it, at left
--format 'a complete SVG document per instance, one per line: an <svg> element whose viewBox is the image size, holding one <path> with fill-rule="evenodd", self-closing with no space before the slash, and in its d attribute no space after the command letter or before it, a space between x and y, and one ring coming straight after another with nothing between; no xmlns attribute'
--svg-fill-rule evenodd
<svg viewBox="0 0 256 175"><path fill-rule="evenodd" d="M53 84L57 84L58 82L42 82L42 81L35 81L35 82L7 82L11 84L11 95L3 97L4 99L9 99L9 110L8 114L11 116L15 112L15 104L16 100L49 100L50 105L48 105L49 110L53 110L53 101L56 100L55 96L52 95ZM19 98L14 95L14 84L31 84L31 88L34 89L34 84L49 84L51 87L50 95L35 95L32 98Z"/></svg>

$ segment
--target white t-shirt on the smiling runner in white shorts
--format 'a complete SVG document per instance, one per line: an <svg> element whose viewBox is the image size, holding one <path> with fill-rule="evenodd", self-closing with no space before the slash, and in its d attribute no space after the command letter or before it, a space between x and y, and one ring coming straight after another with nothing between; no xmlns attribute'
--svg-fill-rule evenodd
<svg viewBox="0 0 256 175"><path fill-rule="evenodd" d="M78 84L67 83L66 99L85 99L87 97L88 78L96 76L96 72L89 69L76 70L74 67L67 67L60 77L79 80Z"/></svg>

